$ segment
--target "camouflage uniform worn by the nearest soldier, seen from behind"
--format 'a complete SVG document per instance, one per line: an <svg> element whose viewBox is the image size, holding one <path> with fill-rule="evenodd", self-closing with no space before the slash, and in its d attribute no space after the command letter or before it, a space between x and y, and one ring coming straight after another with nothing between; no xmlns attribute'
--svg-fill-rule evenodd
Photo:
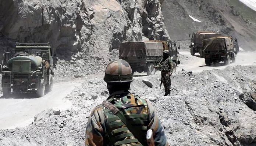
<svg viewBox="0 0 256 146"><path fill-rule="evenodd" d="M140 143L113 112L103 105L98 105L88 119L85 146L146 146L148 129L153 130L156 146L168 146L160 120L149 101L120 91L112 93L107 101L117 107L128 122L138 129L137 132L145 138L145 142Z"/></svg>

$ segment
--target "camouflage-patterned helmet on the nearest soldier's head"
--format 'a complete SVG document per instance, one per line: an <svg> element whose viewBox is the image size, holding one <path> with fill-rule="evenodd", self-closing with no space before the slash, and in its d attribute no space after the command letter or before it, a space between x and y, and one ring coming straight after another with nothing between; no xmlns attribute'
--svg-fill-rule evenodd
<svg viewBox="0 0 256 146"><path fill-rule="evenodd" d="M107 83L132 82L132 68L129 63L122 59L111 61L106 68L104 81Z"/></svg>

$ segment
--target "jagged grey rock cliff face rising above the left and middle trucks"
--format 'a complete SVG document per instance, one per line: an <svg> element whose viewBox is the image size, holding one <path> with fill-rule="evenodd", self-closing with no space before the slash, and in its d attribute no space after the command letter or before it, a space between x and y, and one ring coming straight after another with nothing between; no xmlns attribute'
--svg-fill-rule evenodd
<svg viewBox="0 0 256 146"><path fill-rule="evenodd" d="M0 1L0 53L13 49L15 42L51 42L60 59L95 59L106 57L122 41L168 40L160 2Z"/></svg>

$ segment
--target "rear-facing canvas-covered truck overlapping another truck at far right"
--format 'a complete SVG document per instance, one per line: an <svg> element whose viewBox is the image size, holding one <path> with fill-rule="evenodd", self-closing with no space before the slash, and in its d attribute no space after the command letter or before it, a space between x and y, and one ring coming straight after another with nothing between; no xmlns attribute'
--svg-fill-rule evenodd
<svg viewBox="0 0 256 146"><path fill-rule="evenodd" d="M207 66L220 61L224 61L225 64L230 64L231 60L232 63L235 62L235 48L230 36L205 39L203 40L203 48Z"/></svg>

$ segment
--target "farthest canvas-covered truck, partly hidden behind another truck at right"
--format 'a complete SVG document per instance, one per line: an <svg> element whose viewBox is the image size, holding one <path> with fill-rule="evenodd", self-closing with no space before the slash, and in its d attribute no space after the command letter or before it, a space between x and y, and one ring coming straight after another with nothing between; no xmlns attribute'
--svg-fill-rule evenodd
<svg viewBox="0 0 256 146"><path fill-rule="evenodd" d="M191 44L189 45L190 54L194 56L195 53L199 52L200 57L204 57L202 41L217 36L221 36L221 34L214 33L213 31L198 31L197 33L193 33L191 37Z"/></svg>

